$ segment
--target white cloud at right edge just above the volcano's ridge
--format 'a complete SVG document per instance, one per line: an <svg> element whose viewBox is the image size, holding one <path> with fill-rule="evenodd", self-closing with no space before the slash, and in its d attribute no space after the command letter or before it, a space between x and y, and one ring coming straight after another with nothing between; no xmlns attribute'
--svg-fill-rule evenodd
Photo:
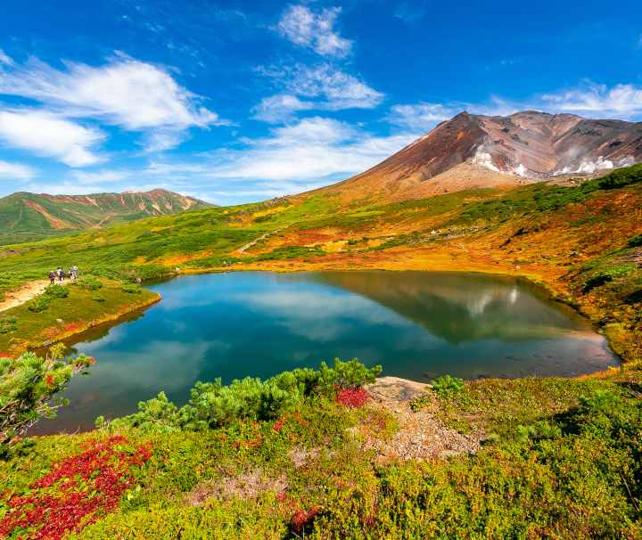
<svg viewBox="0 0 642 540"><path fill-rule="evenodd" d="M588 82L556 94L545 94L541 101L556 111L630 119L642 114L642 87L608 87Z"/></svg>

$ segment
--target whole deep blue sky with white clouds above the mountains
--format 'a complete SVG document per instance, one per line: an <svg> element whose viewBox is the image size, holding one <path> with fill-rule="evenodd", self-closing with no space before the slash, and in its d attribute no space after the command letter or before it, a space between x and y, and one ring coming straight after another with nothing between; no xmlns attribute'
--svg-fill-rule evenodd
<svg viewBox="0 0 642 540"><path fill-rule="evenodd" d="M642 3L5 0L0 195L331 184L460 110L642 120Z"/></svg>

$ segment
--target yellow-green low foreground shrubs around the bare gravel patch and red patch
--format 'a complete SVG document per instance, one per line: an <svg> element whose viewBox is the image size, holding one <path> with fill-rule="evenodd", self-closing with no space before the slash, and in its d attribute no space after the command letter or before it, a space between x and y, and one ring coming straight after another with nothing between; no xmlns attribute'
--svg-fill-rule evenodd
<svg viewBox="0 0 642 540"><path fill-rule="evenodd" d="M377 464L363 430L350 428L370 426L369 438L386 440L391 431L375 426L393 422L323 397L298 405L299 420L280 431L274 421L120 430L133 444L151 443L152 459L135 471L118 509L69 537L637 538L640 373L614 370L568 385L481 380L448 398L431 392L449 424L462 425L465 413L475 430L492 433L478 454L425 462ZM29 485L54 462L107 435L35 438L0 462L5 496L34 493ZM295 513L311 510L308 525L293 530Z"/></svg>

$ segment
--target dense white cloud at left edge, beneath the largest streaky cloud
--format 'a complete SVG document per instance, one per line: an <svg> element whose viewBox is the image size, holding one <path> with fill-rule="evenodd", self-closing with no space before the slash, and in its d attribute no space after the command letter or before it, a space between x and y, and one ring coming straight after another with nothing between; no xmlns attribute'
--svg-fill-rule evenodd
<svg viewBox="0 0 642 540"><path fill-rule="evenodd" d="M103 134L40 110L0 110L0 139L8 146L60 160L70 167L93 165Z"/></svg>

